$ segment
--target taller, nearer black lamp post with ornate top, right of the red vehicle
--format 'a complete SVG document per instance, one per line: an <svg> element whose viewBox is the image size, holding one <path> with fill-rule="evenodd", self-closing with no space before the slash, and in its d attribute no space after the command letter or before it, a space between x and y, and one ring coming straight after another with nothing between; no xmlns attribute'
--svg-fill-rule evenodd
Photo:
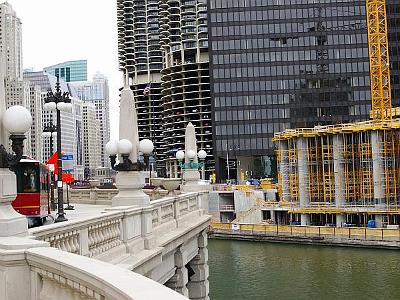
<svg viewBox="0 0 400 300"><path fill-rule="evenodd" d="M63 195L63 182L62 182L62 154L61 154L61 111L71 112L72 104L68 92L62 92L60 88L59 77L57 76L55 93L52 91L47 92L44 109L56 111L57 113L57 194L58 194L58 212L56 223L67 221L64 213L64 195Z"/></svg>

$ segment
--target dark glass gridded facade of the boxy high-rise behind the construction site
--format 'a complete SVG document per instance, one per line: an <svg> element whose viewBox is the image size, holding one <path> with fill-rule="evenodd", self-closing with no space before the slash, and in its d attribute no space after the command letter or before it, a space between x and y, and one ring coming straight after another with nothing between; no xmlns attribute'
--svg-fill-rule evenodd
<svg viewBox="0 0 400 300"><path fill-rule="evenodd" d="M390 17L399 16L396 1L388 1L396 11ZM238 168L250 161L242 171L274 177L274 132L369 118L365 1L210 0L208 20L220 179L227 152ZM398 42L393 46L398 76Z"/></svg>

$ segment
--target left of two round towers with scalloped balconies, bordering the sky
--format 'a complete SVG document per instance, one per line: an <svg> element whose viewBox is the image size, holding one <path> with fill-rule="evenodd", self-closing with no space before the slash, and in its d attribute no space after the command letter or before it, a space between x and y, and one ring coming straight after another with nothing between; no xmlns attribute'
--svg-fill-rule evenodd
<svg viewBox="0 0 400 300"><path fill-rule="evenodd" d="M162 52L157 0L117 0L120 70L128 73L138 113L140 139L154 143L159 175L165 169L163 103L161 100ZM149 92L145 93L145 88Z"/></svg>

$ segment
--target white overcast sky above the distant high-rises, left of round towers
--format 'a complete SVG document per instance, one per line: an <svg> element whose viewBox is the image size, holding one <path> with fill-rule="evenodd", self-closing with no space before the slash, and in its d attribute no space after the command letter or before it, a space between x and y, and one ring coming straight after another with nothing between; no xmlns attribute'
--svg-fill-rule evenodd
<svg viewBox="0 0 400 300"><path fill-rule="evenodd" d="M0 0L0 2L4 2ZM8 0L22 22L24 68L88 61L88 80L99 71L110 84L111 137L117 138L118 71L116 0Z"/></svg>

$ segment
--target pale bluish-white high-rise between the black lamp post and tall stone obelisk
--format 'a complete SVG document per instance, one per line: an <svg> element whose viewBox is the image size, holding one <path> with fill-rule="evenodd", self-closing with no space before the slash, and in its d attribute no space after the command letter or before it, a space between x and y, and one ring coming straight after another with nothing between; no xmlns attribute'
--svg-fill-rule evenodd
<svg viewBox="0 0 400 300"><path fill-rule="evenodd" d="M104 150L105 145L110 140L110 97L107 78L103 74L96 73L91 82L71 82L69 86L84 103L94 104L95 117L100 126L100 164L97 167L110 167L110 159Z"/></svg>

